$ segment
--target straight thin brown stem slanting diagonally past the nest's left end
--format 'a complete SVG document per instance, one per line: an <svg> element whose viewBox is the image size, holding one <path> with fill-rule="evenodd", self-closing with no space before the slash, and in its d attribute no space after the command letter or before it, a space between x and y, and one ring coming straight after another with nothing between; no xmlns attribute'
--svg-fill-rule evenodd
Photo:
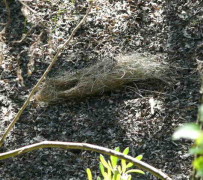
<svg viewBox="0 0 203 180"><path fill-rule="evenodd" d="M60 53L65 49L65 46L67 46L71 39L73 38L73 36L75 35L76 31L80 28L80 26L85 22L91 8L93 6L93 2L90 1L90 6L86 12L86 15L83 17L83 19L79 22L79 24L74 28L73 32L71 33L70 37L67 39L67 41L58 48L56 55L52 58L51 63L49 64L49 66L47 67L46 71L44 72L44 74L42 75L42 77L38 80L37 84L33 87L32 91L30 92L28 98L26 99L26 101L24 102L23 106L20 108L20 110L18 111L18 113L16 114L15 118L13 119L13 121L9 124L8 128L6 129L6 131L4 132L1 140L0 140L0 147L3 145L4 140L6 139L7 135L9 134L9 132L13 129L14 125L16 124L16 122L18 121L18 119L20 118L20 116L22 115L23 111L25 110L25 108L29 105L30 100L32 98L32 96L34 95L34 93L37 91L40 83L46 78L47 74L50 72L51 68L53 67L53 65L56 63L58 56L60 55Z"/></svg>

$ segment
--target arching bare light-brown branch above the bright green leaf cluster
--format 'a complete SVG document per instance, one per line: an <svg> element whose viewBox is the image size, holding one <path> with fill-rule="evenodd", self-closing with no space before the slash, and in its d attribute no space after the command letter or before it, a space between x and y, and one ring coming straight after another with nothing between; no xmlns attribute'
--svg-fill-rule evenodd
<svg viewBox="0 0 203 180"><path fill-rule="evenodd" d="M15 149L9 152L0 153L0 160L7 159L10 157L18 156L23 153L27 153L33 150L41 149L41 148L62 148L62 149L81 149L94 151L102 154L106 154L109 156L116 156L120 159L125 159L126 161L132 162L138 168L148 171L154 176L162 179L162 180L172 180L168 175L156 169L155 167L143 162L139 161L131 156L124 155L123 153L117 152L115 150L111 150L105 147L92 145L88 143L75 143L75 142L59 142L59 141L43 141L36 144L31 144L28 146L21 147L19 149Z"/></svg>

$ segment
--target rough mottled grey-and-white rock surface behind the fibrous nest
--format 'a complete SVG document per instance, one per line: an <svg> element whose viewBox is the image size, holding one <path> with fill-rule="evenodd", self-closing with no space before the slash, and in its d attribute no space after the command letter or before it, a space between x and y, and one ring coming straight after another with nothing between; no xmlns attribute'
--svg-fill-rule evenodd
<svg viewBox="0 0 203 180"><path fill-rule="evenodd" d="M1 134L87 9L87 2L79 0L24 1L27 6L9 2L12 21L0 44ZM202 6L200 0L98 0L49 77L89 67L104 57L145 52L164 54L176 69L176 84L140 81L82 102L31 103L0 151L43 140L129 146L132 156L143 154L143 161L172 179L189 179L191 142L174 142L171 136L178 126L196 120ZM2 30L7 21L3 1L0 12ZM98 157L82 151L38 150L0 161L0 179L86 179L87 167L99 172ZM146 174L134 179L156 178Z"/></svg>

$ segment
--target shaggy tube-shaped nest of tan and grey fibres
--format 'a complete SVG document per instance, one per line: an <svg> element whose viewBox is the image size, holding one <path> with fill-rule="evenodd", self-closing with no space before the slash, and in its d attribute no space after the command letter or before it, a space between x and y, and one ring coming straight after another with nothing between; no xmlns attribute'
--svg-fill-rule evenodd
<svg viewBox="0 0 203 180"><path fill-rule="evenodd" d="M140 80L168 81L168 67L155 55L131 54L105 60L75 73L64 73L48 79L37 93L36 99L44 102L76 100L103 94Z"/></svg>

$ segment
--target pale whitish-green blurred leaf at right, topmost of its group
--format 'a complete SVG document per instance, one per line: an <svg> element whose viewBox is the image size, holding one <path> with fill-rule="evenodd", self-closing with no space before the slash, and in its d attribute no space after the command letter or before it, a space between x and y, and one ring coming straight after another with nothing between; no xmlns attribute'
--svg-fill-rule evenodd
<svg viewBox="0 0 203 180"><path fill-rule="evenodd" d="M178 128L173 134L173 139L177 140L180 138L186 139L197 139L201 135L200 127L194 123L188 123Z"/></svg>

